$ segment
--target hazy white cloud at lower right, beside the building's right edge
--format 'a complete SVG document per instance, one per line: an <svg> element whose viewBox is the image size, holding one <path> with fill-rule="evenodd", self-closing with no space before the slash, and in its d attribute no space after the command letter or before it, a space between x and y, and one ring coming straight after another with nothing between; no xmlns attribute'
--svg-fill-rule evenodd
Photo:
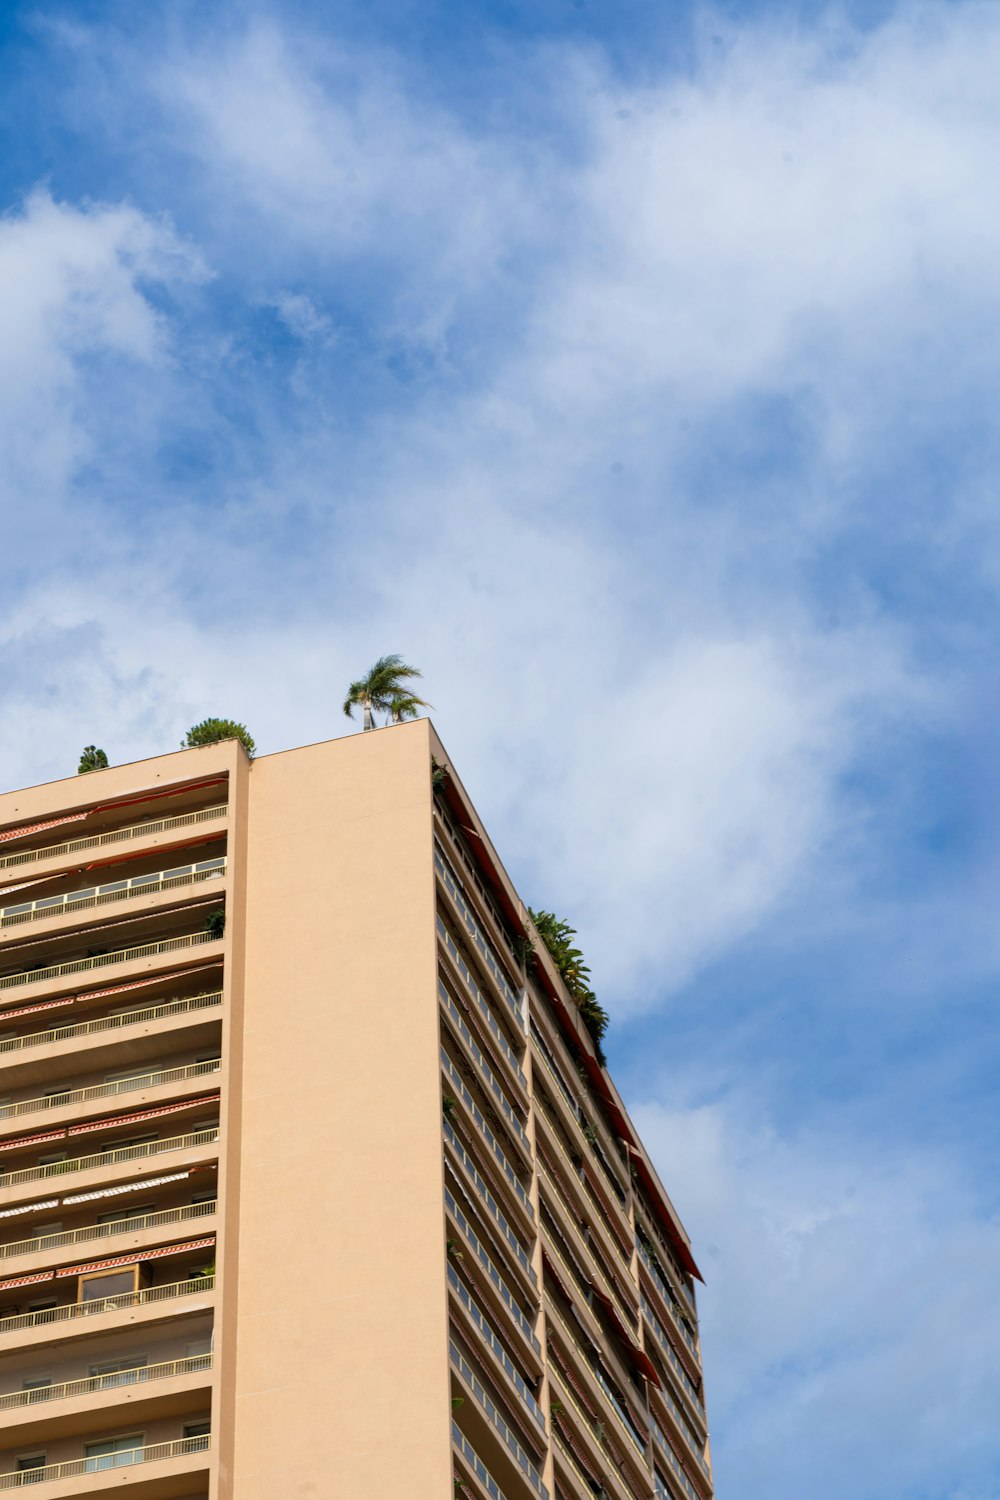
<svg viewBox="0 0 1000 1500"><path fill-rule="evenodd" d="M708 1282L720 1492L996 1496L1000 1226L961 1161L787 1137L738 1100L633 1116Z"/></svg>

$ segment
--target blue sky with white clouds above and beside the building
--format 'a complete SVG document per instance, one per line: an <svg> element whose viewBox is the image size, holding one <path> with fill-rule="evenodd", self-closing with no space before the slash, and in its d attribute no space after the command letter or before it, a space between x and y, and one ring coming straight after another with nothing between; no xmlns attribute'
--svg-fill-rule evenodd
<svg viewBox="0 0 1000 1500"><path fill-rule="evenodd" d="M0 46L3 784L418 662L694 1238L720 1497L1000 1497L997 8Z"/></svg>

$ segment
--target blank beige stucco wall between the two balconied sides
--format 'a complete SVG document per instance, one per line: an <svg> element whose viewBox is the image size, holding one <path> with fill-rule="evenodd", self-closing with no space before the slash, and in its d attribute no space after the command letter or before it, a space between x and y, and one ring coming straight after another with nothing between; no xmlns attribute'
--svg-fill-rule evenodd
<svg viewBox="0 0 1000 1500"><path fill-rule="evenodd" d="M250 771L237 1500L451 1492L429 735Z"/></svg>

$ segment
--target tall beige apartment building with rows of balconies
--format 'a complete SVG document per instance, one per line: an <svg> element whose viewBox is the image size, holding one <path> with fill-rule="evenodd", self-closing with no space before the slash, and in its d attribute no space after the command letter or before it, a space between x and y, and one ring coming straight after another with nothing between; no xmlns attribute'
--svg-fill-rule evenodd
<svg viewBox="0 0 1000 1500"><path fill-rule="evenodd" d="M0 1491L709 1500L688 1239L525 922L427 722L0 796Z"/></svg>

